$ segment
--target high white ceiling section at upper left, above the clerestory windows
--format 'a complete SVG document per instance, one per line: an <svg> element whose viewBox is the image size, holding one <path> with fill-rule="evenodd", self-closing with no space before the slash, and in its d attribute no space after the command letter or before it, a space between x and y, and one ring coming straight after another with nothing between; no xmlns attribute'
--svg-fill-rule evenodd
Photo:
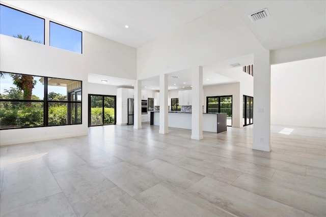
<svg viewBox="0 0 326 217"><path fill-rule="evenodd" d="M225 1L49 0L2 3L137 48L213 11Z"/></svg>

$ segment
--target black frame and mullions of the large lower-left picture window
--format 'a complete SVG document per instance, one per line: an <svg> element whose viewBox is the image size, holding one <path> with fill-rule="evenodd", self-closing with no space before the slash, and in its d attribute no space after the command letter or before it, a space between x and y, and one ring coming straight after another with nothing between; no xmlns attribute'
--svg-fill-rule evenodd
<svg viewBox="0 0 326 217"><path fill-rule="evenodd" d="M8 74L19 74L19 75L30 75L30 74L22 74L22 73L13 73L13 72L4 72L1 71L2 73L8 73ZM28 129L28 128L42 128L42 127L57 127L57 126L69 126L69 125L82 125L83 124L83 81L81 80L73 80L73 79L66 79L66 78L57 78L57 77L48 77L48 76L40 76L40 75L31 75L35 77L43 77L44 78L44 99L43 100L8 100L8 99L0 99L0 102L40 102L43 103L43 125L42 126L27 126L27 127L12 127L12 128L1 128L0 126L0 131L1 130L12 130L12 129ZM80 89L76 88L71 91L76 91L80 90L82 99L80 101L68 101L68 92L67 92L67 100L66 101L53 101L53 100L48 100L48 92L47 92L47 87L48 87L48 78L57 78L57 79L65 79L65 80L71 80L71 81L80 81ZM49 108L49 103L67 103L67 121L69 119L68 117L68 104L80 104L80 123L67 123L65 125L48 125L48 108Z"/></svg>

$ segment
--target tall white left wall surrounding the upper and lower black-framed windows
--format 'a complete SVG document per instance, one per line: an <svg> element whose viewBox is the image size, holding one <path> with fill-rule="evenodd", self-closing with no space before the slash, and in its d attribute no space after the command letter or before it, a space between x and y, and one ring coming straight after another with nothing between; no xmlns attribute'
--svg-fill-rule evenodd
<svg viewBox="0 0 326 217"><path fill-rule="evenodd" d="M47 18L45 22L48 23ZM48 28L45 29L48 36ZM48 38L45 41L48 44ZM88 93L116 95L114 89L93 91L88 73L135 79L136 64L135 48L87 32L83 32L83 54L1 35L0 71L83 81L83 124L1 130L0 145L87 135Z"/></svg>

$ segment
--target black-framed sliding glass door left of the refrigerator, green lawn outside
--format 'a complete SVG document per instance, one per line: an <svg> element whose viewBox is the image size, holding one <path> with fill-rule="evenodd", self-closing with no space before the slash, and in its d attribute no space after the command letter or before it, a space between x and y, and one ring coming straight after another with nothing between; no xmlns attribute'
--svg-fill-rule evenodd
<svg viewBox="0 0 326 217"><path fill-rule="evenodd" d="M116 124L116 96L88 95L88 126Z"/></svg>

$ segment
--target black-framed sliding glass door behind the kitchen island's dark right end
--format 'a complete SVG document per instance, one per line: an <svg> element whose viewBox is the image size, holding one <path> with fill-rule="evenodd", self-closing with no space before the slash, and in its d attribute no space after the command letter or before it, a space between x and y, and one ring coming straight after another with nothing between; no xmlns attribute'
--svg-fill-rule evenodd
<svg viewBox="0 0 326 217"><path fill-rule="evenodd" d="M206 113L227 113L227 126L232 126L232 96L207 97Z"/></svg>

